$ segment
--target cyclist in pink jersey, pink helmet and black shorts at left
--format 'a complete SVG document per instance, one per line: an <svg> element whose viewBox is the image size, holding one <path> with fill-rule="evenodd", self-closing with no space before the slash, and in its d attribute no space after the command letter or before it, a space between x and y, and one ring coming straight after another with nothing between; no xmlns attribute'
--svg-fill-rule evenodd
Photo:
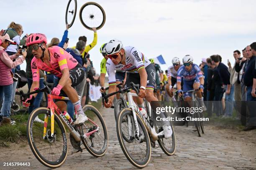
<svg viewBox="0 0 256 170"><path fill-rule="evenodd" d="M30 92L39 87L39 70L51 72L60 78L59 84L52 90L53 95L67 95L77 110L78 117L74 124L81 124L87 121L87 116L84 114L81 101L78 98L76 90L73 88L78 85L84 78L84 70L82 66L68 52L61 47L53 46L46 47L47 39L44 34L34 33L27 39L26 45L34 57L31 61L31 70L33 83ZM36 94L23 102L29 106L33 103ZM56 105L62 110L66 110L67 105L64 101L57 101Z"/></svg>

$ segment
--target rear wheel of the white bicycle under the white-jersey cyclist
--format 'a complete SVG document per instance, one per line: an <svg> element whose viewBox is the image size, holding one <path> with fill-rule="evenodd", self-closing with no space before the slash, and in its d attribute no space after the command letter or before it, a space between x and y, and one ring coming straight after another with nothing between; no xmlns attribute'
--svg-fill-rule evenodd
<svg viewBox="0 0 256 170"><path fill-rule="evenodd" d="M161 125L157 125L155 115L156 114L153 113L154 126L156 129L156 133L160 133L163 130L163 128L161 127ZM176 150L176 138L175 138L174 128L172 126L171 121L169 121L169 125L172 127L172 138L169 138L169 139L161 138L157 140L157 142L159 143L159 146L164 151L164 153L168 156L171 156L171 155L174 155Z"/></svg>

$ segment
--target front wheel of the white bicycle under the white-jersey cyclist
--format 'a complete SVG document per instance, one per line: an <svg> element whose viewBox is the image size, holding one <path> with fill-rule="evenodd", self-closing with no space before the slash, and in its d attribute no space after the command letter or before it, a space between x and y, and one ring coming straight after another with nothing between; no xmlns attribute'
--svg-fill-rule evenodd
<svg viewBox="0 0 256 170"><path fill-rule="evenodd" d="M116 122L116 132L118 136L118 141L123 150L125 157L130 161L131 164L138 168L146 167L151 157L151 144L148 136L148 132L146 130L145 125L143 124L141 118L136 113L138 120L138 127L140 131L139 138L137 140L134 137L135 132L135 123L133 119L133 112L131 108L124 108L121 110L118 115L118 119ZM125 117L131 117L131 125L128 125L127 122L123 121ZM130 133L132 132L132 133ZM127 142L123 135L126 138L131 139L130 142Z"/></svg>

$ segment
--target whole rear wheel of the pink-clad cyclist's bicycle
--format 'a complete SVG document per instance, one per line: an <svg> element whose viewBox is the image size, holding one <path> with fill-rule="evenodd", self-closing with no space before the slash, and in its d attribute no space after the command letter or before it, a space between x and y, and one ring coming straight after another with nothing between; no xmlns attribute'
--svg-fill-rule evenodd
<svg viewBox="0 0 256 170"><path fill-rule="evenodd" d="M99 110L97 110L97 108L94 106L85 105L82 109L88 117L88 120L84 122L82 126L80 126L82 135L97 129L96 125L100 128L99 131L92 133L89 137L82 140L84 147L93 156L103 156L108 148L108 131L105 121L103 120ZM96 125L92 122L94 122Z"/></svg>

